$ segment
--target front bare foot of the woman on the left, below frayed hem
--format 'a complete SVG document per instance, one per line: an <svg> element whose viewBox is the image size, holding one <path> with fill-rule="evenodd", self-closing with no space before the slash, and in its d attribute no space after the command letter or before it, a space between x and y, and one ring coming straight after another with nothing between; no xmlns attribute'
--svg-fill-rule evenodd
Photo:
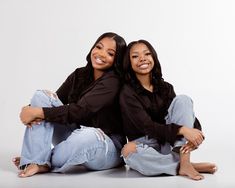
<svg viewBox="0 0 235 188"><path fill-rule="evenodd" d="M19 177L26 178L38 173L48 172L50 168L47 165L30 164L24 170L19 172Z"/></svg>

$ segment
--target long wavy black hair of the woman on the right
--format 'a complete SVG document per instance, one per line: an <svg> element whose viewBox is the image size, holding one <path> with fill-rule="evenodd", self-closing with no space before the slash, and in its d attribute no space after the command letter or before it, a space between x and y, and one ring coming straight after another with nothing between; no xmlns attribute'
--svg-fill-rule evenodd
<svg viewBox="0 0 235 188"><path fill-rule="evenodd" d="M151 56L154 61L154 66L151 71L151 84L153 84L155 87L157 87L157 90L160 94L163 94L164 90L164 79L162 78L162 69L161 64L158 60L157 52L153 48L153 46L146 40L138 40L138 41L132 41L128 44L126 53L123 60L123 72L124 72L124 79L126 83L129 83L133 87L136 87L136 85L139 85L140 82L137 79L135 72L133 71L131 67L131 59L130 59L130 50L135 44L145 44L147 48L149 49Z"/></svg>

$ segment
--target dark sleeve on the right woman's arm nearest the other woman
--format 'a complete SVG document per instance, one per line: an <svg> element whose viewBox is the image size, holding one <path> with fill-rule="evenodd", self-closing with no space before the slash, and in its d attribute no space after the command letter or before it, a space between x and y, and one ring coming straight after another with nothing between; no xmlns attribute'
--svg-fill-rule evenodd
<svg viewBox="0 0 235 188"><path fill-rule="evenodd" d="M151 119L137 94L130 88L123 90L120 95L120 105L125 129L137 129L143 135L159 140L161 143L174 144L179 128L176 124L160 124Z"/></svg>

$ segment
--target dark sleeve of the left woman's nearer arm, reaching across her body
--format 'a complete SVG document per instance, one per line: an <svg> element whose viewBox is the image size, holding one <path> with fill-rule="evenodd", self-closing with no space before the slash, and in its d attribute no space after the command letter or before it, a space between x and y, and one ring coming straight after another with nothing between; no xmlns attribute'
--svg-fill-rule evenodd
<svg viewBox="0 0 235 188"><path fill-rule="evenodd" d="M67 87L66 84L62 87ZM104 76L95 81L77 103L43 108L45 120L62 124L82 124L88 118L92 118L99 110L112 104L119 87L117 76ZM59 91L61 90L59 89Z"/></svg>

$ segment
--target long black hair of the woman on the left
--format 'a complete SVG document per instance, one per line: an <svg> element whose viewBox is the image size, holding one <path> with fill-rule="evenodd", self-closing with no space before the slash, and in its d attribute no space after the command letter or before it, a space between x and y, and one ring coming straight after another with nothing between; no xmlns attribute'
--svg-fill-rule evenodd
<svg viewBox="0 0 235 188"><path fill-rule="evenodd" d="M106 37L112 38L116 42L116 53L114 56L114 63L111 69L113 69L114 72L117 73L119 76L123 76L122 63L123 63L123 57L124 57L125 50L126 50L126 41L124 40L123 37L113 32L103 33L96 40L96 42L94 43L94 45L92 46L92 48L90 49L89 53L86 56L86 60L87 60L86 68L88 69L89 73L91 74L93 73L93 67L91 63L91 51L93 50L93 48L95 48L97 43L99 43L103 38L106 38Z"/></svg>

